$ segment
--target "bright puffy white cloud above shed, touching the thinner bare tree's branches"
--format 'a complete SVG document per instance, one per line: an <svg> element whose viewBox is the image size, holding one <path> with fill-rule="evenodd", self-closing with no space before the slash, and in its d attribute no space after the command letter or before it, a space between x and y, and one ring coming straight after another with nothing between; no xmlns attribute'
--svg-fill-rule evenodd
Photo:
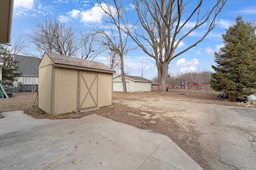
<svg viewBox="0 0 256 170"><path fill-rule="evenodd" d="M81 21L82 22L100 22L103 18L103 16L105 15L104 11L98 6L99 4L95 4L96 6L92 7L91 9L88 9L86 11L82 11L80 14L82 15ZM108 5L107 4L101 4L103 8L105 8L106 10L108 9ZM110 9L112 11L114 10L113 6L110 6Z"/></svg>

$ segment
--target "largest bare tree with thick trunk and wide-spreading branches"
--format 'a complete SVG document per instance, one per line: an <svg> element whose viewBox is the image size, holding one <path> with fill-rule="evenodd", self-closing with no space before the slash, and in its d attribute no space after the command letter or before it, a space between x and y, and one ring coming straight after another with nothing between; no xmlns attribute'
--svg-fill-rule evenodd
<svg viewBox="0 0 256 170"><path fill-rule="evenodd" d="M197 3L185 0L134 0L134 7L144 31L129 31L130 27L126 25L126 32L147 55L155 59L160 92L166 91L170 61L195 47L212 31L216 16L226 1L216 0L214 4L208 1L209 6L205 6L206 0L198 0ZM194 4L196 5L192 10L185 9L186 6ZM195 38L194 42L190 42L191 45L174 53L182 40L202 26L206 26L206 31L201 32L201 37Z"/></svg>

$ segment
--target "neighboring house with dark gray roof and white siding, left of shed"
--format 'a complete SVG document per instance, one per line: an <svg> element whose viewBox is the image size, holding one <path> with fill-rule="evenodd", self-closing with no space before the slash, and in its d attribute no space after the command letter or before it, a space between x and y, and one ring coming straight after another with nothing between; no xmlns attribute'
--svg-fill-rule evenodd
<svg viewBox="0 0 256 170"><path fill-rule="evenodd" d="M18 61L18 71L21 75L13 82L14 87L19 84L38 84L38 66L41 61L37 57L14 55L14 60Z"/></svg>

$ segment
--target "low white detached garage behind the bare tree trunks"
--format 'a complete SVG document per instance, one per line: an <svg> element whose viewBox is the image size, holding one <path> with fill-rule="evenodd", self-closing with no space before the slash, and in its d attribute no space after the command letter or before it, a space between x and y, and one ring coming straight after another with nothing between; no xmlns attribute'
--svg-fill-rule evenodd
<svg viewBox="0 0 256 170"><path fill-rule="evenodd" d="M127 92L151 91L151 80L138 76L125 76ZM122 76L113 78L113 91L123 92Z"/></svg>

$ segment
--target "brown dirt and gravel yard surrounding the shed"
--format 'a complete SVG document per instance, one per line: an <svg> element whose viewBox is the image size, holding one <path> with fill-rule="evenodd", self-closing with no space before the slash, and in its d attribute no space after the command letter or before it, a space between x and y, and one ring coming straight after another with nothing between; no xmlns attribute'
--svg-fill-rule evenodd
<svg viewBox="0 0 256 170"><path fill-rule="evenodd" d="M184 95L176 95L178 93ZM215 119L216 115L208 114L206 107L209 104L242 106L217 98L217 94L213 91L174 89L167 93L114 92L112 106L84 113L51 116L38 107L32 107L36 93L19 93L14 94L10 100L0 99L0 111L24 110L26 114L38 119L80 118L97 114L140 129L150 129L152 132L167 135L204 169L234 169L222 164L218 159L218 145L215 142L218 122Z"/></svg>

